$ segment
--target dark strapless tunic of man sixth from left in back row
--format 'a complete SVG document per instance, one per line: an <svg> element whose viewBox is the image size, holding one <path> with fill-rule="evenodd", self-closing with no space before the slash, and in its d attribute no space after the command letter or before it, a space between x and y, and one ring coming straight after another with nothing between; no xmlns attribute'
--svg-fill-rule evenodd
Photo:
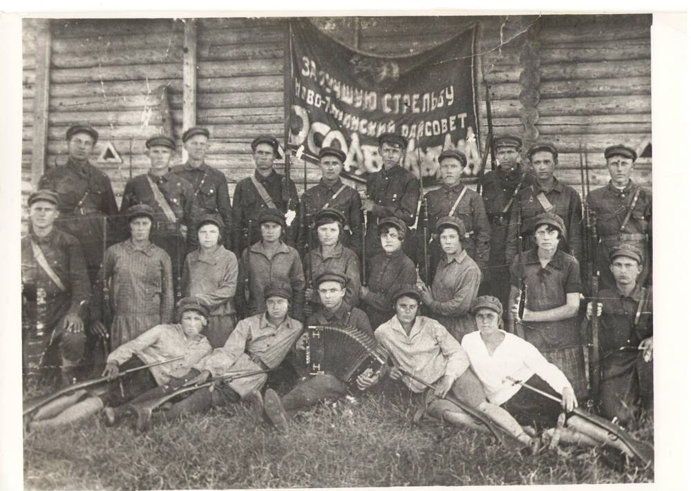
<svg viewBox="0 0 691 491"><path fill-rule="evenodd" d="M381 218L395 216L410 227L415 223L417 202L420 198L420 183L410 171L397 165L367 176L367 196L375 202L375 209L368 213L365 240L366 258L371 260L382 252L377 223ZM415 240L409 239L405 245L406 253L415 249Z"/></svg>

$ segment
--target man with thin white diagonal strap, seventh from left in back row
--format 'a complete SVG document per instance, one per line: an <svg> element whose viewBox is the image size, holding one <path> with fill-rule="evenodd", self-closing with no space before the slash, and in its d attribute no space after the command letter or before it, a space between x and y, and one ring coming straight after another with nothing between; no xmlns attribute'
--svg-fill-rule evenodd
<svg viewBox="0 0 691 491"><path fill-rule="evenodd" d="M444 150L439 154L439 171L442 173L442 186L425 195L429 217L430 235L433 238L428 248L430 254L430 280L437 271L437 264L444 258L439 237L436 233L437 223L447 217L457 217L464 223L461 237L463 250L484 270L489 260L489 239L491 227L487 220L484 203L479 194L464 186L461 182L463 169L467 164L464 153L457 150ZM418 229L418 237L422 238ZM418 242L416 252L422 253L422 242ZM417 261L424 264L422 258ZM425 277L424 268L420 276ZM470 304L468 304L468 307Z"/></svg>

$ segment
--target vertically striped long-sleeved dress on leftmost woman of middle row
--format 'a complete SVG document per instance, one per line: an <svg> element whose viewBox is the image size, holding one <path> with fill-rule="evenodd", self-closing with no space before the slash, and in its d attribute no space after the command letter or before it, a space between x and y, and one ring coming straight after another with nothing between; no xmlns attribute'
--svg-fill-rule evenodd
<svg viewBox="0 0 691 491"><path fill-rule="evenodd" d="M171 260L163 249L153 243L138 249L128 239L108 247L104 268L111 285L111 349L173 320Z"/></svg>

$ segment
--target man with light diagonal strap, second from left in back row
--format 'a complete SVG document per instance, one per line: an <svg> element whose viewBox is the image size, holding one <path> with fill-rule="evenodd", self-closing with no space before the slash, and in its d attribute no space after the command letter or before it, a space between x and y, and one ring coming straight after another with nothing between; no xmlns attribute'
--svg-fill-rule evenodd
<svg viewBox="0 0 691 491"><path fill-rule="evenodd" d="M169 164L175 151L175 142L166 135L146 140L151 169L125 184L120 215L126 216L130 206L148 204L153 208L155 220L151 224L151 241L166 251L173 266L173 288L182 297L182 262L184 261L187 233L194 233L191 210L194 191L192 185L171 173Z"/></svg>

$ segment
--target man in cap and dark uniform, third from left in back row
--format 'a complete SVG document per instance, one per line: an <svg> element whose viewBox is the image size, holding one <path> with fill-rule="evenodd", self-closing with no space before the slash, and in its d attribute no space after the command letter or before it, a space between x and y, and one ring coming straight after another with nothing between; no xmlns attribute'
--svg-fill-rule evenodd
<svg viewBox="0 0 691 491"><path fill-rule="evenodd" d="M193 201L191 231L197 229L197 222L204 215L216 215L223 222L223 244L231 250L233 229L232 209L228 195L228 181L225 175L204 162L209 148L209 130L193 126L182 133L182 146L187 150L187 162L175 166L172 172L192 185ZM187 234L187 251L196 249L199 240L196 233Z"/></svg>

